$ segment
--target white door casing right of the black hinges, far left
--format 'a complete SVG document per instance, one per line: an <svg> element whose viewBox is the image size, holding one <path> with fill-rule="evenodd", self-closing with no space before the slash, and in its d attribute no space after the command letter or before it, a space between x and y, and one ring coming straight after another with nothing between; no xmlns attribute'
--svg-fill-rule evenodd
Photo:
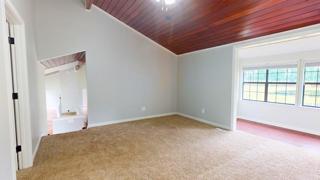
<svg viewBox="0 0 320 180"><path fill-rule="evenodd" d="M19 93L20 134L21 144L23 144L21 145L22 168L27 168L32 166L33 157L24 21L17 12L17 10L14 8L10 0L1 0L1 3L2 2L4 2L5 15L7 17L7 20L9 20L9 22L13 25L14 28L14 47L18 83L17 88Z"/></svg>

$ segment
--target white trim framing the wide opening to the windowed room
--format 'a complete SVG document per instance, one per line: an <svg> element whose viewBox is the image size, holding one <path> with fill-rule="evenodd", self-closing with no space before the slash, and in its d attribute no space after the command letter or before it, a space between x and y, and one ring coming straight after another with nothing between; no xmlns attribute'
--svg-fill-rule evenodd
<svg viewBox="0 0 320 180"><path fill-rule="evenodd" d="M238 59L238 50L253 46L266 45L270 43L277 43L281 41L293 40L304 38L313 35L320 35L320 24L314 24L306 27L292 29L284 32L279 32L263 37L246 40L244 43L233 46L232 58L232 81L231 81L231 123L230 129L236 130L236 116L237 116L237 103L239 98L239 77L240 77L240 64Z"/></svg>

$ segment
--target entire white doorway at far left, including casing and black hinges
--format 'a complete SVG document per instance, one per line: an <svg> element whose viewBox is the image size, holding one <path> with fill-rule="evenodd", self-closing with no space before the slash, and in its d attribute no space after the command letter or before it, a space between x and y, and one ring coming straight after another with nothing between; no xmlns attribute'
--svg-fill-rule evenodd
<svg viewBox="0 0 320 180"><path fill-rule="evenodd" d="M2 104L0 148L1 153L6 156L6 160L2 163L4 165L1 165L1 172L5 173L1 173L1 176L12 177L13 175L15 177L15 170L30 167L33 163L25 33L24 22L11 2L1 0L0 8L0 42L2 43L0 49L0 96ZM14 36L14 45L11 45L11 50L8 41L9 33L10 36ZM13 39L10 39L10 42L13 42ZM12 64L10 56L14 59ZM12 74L12 71L15 72ZM13 92L19 93L16 95L12 94ZM15 99L16 96L18 100ZM15 117L20 120L15 122ZM17 147L19 144L21 144L21 147ZM16 153L17 150L20 151L19 155ZM18 156L19 160L17 160Z"/></svg>

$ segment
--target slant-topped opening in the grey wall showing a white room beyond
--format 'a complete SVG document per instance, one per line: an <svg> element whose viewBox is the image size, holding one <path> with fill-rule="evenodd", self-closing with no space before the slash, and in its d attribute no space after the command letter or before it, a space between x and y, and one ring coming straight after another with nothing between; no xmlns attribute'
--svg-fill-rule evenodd
<svg viewBox="0 0 320 180"><path fill-rule="evenodd" d="M41 60L45 67L48 134L85 129L85 51Z"/></svg>

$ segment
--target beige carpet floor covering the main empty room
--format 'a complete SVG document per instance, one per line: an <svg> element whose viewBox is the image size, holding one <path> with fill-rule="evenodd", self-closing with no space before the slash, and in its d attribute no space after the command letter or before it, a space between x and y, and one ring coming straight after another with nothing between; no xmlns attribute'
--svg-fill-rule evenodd
<svg viewBox="0 0 320 180"><path fill-rule="evenodd" d="M170 115L44 136L17 179L320 179L320 154Z"/></svg>

